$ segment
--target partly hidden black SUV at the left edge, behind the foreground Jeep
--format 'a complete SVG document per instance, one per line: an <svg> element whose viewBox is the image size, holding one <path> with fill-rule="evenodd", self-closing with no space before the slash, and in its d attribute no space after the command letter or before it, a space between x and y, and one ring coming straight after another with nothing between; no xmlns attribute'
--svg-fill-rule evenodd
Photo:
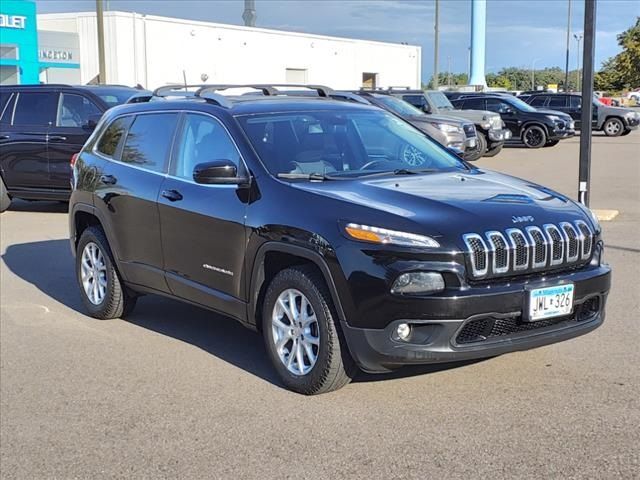
<svg viewBox="0 0 640 480"><path fill-rule="evenodd" d="M12 197L67 200L72 155L106 110L137 93L118 85L0 87L0 212Z"/></svg>

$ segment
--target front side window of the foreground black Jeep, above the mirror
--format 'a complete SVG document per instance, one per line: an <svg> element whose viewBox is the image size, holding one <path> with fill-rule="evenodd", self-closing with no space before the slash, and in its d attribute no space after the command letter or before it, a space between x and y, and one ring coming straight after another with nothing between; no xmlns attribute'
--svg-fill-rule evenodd
<svg viewBox="0 0 640 480"><path fill-rule="evenodd" d="M206 115L188 113L177 139L172 174L193 179L195 166L215 160L231 160L240 168L240 154L222 124Z"/></svg>

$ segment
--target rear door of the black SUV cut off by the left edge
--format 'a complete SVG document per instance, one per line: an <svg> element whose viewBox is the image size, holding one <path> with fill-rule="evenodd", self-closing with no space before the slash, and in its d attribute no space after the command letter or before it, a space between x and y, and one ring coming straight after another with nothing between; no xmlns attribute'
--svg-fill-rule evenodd
<svg viewBox="0 0 640 480"><path fill-rule="evenodd" d="M0 168L9 190L47 189L47 135L55 122L58 93L18 90L5 105L0 128Z"/></svg>

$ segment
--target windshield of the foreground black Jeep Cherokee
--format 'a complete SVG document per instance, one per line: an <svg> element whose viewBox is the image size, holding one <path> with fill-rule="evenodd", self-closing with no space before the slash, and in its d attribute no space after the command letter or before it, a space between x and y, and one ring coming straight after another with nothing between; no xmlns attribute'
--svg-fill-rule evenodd
<svg viewBox="0 0 640 480"><path fill-rule="evenodd" d="M275 176L335 179L467 169L422 132L382 110L314 110L237 118Z"/></svg>

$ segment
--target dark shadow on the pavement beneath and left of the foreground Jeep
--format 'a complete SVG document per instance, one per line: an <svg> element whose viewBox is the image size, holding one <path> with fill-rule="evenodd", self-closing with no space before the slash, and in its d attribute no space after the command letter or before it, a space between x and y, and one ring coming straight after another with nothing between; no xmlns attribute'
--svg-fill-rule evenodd
<svg viewBox="0 0 640 480"><path fill-rule="evenodd" d="M69 241L46 240L9 245L2 260L11 272L45 295L85 315L76 285ZM87 316L87 321L92 320ZM211 355L283 388L259 333L237 321L169 298L149 295L138 300L126 321L194 345ZM374 382L439 372L475 362L403 367L388 374L359 373L355 382Z"/></svg>

